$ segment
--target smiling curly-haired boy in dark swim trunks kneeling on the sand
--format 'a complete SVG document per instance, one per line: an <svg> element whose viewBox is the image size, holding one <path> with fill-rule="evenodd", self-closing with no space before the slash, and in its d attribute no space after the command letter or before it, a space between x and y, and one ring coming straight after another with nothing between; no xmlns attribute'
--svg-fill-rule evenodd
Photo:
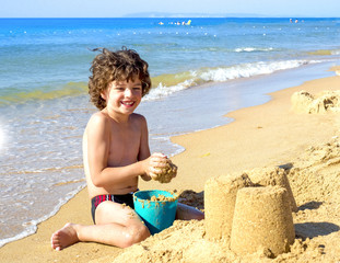
<svg viewBox="0 0 340 263"><path fill-rule="evenodd" d="M95 225L67 224L51 237L51 247L61 250L79 241L120 248L150 236L133 210L138 180L156 178L167 158L150 156L148 125L133 113L151 88L148 62L131 49L106 48L93 60L89 81L91 101L101 111L90 118L83 135L83 160L92 217ZM178 204L177 218L202 219L203 214Z"/></svg>

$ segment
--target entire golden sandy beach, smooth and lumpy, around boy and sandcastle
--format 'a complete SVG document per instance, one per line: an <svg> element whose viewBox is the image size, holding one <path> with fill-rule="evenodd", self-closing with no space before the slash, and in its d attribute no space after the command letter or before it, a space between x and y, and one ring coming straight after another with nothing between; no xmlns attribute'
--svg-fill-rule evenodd
<svg viewBox="0 0 340 263"><path fill-rule="evenodd" d="M223 241L204 238L204 220L175 221L173 227L125 250L77 243L54 251L50 236L55 230L68 221L92 224L90 201L83 190L40 224L35 235L2 247L1 262L340 261L339 90L340 76L288 87L271 93L272 100L266 104L227 114L234 119L231 124L174 137L173 142L186 149L172 158L178 167L177 178L171 184L140 184L142 190L177 190L183 192L183 203L204 209L203 191L209 179L281 167L297 205L297 211L292 213L295 241L290 252L275 259L262 251L237 255ZM295 93L301 91L305 93ZM315 102L324 95L328 96Z"/></svg>

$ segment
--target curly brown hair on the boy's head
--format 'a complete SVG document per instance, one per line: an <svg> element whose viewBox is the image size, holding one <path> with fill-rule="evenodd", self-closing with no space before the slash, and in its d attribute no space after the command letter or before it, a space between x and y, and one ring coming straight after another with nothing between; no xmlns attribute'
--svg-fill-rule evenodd
<svg viewBox="0 0 340 263"><path fill-rule="evenodd" d="M92 61L89 78L89 94L91 102L99 110L106 107L106 101L101 96L109 84L115 81L134 81L138 77L142 82L142 95L151 88L151 79L148 71L148 62L140 58L133 49L122 47L120 50L112 52L107 48L96 48L101 52Z"/></svg>

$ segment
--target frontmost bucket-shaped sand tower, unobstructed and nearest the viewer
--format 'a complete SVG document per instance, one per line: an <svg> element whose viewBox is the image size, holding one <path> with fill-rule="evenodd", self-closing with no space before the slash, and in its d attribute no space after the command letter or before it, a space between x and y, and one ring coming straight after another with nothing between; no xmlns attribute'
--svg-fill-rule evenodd
<svg viewBox="0 0 340 263"><path fill-rule="evenodd" d="M285 188L280 186L238 190L231 235L237 254L270 250L273 256L289 252L294 242L293 217Z"/></svg>

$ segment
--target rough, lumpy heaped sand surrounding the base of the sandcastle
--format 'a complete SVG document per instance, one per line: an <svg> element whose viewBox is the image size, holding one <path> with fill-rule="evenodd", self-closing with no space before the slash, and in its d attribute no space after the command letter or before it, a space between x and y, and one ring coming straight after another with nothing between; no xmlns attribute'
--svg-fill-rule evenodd
<svg viewBox="0 0 340 263"><path fill-rule="evenodd" d="M310 147L300 159L281 165L289 179L298 210L293 213L295 241L290 252L275 259L266 248L236 255L225 239L206 238L204 220L180 221L134 244L116 259L95 262L337 262L340 260L340 140ZM263 173L282 170L265 168ZM259 174L261 169L257 169ZM268 172L271 171L271 172ZM251 173L249 173L251 178ZM253 178L256 178L253 175ZM270 181L270 180L269 180ZM202 204L202 193L188 191L180 196L187 204ZM191 201L190 201L191 198Z"/></svg>

